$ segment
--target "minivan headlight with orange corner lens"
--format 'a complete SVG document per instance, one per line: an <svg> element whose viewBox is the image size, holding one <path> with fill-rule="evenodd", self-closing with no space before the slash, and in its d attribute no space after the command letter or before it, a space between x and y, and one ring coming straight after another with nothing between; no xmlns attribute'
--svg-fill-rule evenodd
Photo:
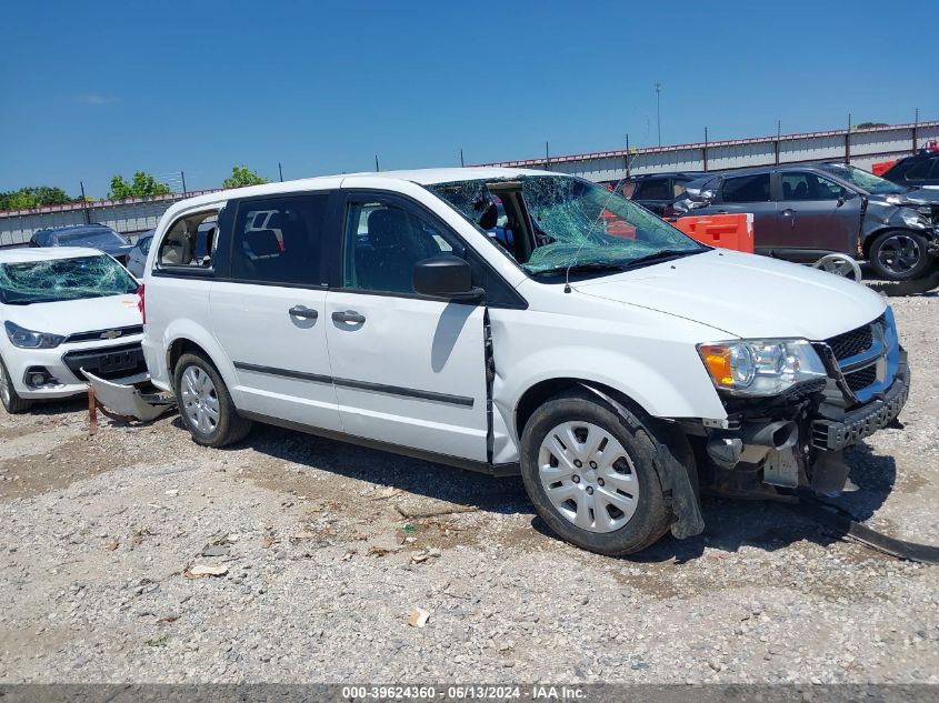
<svg viewBox="0 0 939 703"><path fill-rule="evenodd" d="M740 395L776 395L827 375L806 340L740 340L698 345L715 385Z"/></svg>

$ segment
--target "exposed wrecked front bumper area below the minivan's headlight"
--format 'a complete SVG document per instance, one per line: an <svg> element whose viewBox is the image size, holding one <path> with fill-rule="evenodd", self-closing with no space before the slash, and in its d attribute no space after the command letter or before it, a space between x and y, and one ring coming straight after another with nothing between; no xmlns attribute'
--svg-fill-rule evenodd
<svg viewBox="0 0 939 703"><path fill-rule="evenodd" d="M702 484L728 495L766 494L778 486L837 495L848 481L842 451L889 426L910 389L906 354L892 383L868 402L846 408L833 380L787 402L751 405L730 415L727 429L706 431L708 475ZM811 392L813 390L813 392Z"/></svg>

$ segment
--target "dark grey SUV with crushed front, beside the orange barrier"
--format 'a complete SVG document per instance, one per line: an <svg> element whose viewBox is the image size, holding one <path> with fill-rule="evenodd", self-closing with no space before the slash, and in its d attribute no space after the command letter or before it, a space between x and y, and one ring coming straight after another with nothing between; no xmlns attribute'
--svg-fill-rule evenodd
<svg viewBox="0 0 939 703"><path fill-rule="evenodd" d="M869 260L891 281L921 278L939 255L933 204L855 167L745 169L705 177L687 189L689 198L676 203L682 214L753 213L757 253L799 263L848 254Z"/></svg>

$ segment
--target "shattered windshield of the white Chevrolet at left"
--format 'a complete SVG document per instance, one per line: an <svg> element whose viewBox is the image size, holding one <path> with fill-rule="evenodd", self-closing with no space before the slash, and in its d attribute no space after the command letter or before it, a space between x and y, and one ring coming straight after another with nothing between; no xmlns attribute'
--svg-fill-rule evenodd
<svg viewBox="0 0 939 703"><path fill-rule="evenodd" d="M0 301L9 305L123 295L137 288L133 277L104 254L0 264Z"/></svg>

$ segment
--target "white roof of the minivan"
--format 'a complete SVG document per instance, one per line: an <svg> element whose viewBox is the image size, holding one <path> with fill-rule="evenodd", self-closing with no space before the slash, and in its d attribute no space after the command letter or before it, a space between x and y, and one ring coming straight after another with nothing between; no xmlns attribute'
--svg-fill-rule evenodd
<svg viewBox="0 0 939 703"><path fill-rule="evenodd" d="M246 188L232 188L214 193L206 193L187 200L180 200L169 211L176 213L179 210L192 205L210 204L229 200L231 198L251 198L254 195L276 195L278 193L290 193L300 190L316 190L317 188L354 188L357 180L364 181L376 178L388 179L389 181L406 181L419 185L432 185L434 183L449 183L452 181L473 181L481 179L506 179L519 178L520 175L566 175L550 171L536 171L533 169L502 169L497 167L467 167L450 169L416 169L412 171L363 171L360 173L341 173L336 175L318 175L296 181L283 181L264 183L262 185L248 185ZM168 211L168 212L169 212Z"/></svg>

